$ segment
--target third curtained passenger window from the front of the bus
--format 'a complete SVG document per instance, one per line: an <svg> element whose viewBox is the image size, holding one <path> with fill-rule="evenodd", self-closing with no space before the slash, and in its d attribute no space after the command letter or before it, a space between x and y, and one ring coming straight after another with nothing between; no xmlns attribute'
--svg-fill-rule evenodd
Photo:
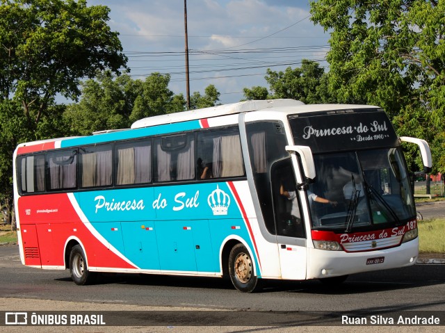
<svg viewBox="0 0 445 333"><path fill-rule="evenodd" d="M115 145L115 184L147 184L152 181L150 140Z"/></svg>

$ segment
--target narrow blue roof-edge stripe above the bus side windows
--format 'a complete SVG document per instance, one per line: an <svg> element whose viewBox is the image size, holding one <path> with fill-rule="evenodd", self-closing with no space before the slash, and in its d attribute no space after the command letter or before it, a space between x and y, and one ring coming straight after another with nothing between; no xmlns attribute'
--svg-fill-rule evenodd
<svg viewBox="0 0 445 333"><path fill-rule="evenodd" d="M73 147L81 145L92 145L95 143L106 143L117 140L128 140L132 138L140 138L143 136L156 136L166 133L175 133L181 131L191 131L200 129L199 120L191 120L188 122L178 122L176 124L164 124L154 127L145 127L143 129L129 129L128 131L116 131L111 133L99 134L97 136L83 136L81 138L64 139L60 143L60 147Z"/></svg>

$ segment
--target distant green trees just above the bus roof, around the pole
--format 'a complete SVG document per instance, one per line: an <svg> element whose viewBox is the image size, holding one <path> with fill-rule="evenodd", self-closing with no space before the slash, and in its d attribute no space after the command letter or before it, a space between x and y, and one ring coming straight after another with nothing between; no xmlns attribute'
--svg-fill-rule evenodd
<svg viewBox="0 0 445 333"><path fill-rule="evenodd" d="M63 120L72 135L90 135L106 129L129 128L144 117L186 110L184 96L175 95L169 88L169 74L152 73L145 81L133 80L129 74L114 78L110 72L82 83L78 104L67 106ZM220 92L207 86L205 94L194 92L193 108L215 106Z"/></svg>

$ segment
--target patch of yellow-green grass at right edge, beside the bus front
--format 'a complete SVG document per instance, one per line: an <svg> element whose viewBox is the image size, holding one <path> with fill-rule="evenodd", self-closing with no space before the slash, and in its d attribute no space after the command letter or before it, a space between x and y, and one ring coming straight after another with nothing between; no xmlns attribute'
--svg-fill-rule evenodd
<svg viewBox="0 0 445 333"><path fill-rule="evenodd" d="M421 253L445 253L445 218L419 221Z"/></svg>

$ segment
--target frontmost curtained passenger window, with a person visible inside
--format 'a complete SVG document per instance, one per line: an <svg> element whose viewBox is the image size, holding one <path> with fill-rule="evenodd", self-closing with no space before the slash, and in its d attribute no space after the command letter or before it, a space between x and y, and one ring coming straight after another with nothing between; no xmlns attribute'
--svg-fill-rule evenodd
<svg viewBox="0 0 445 333"><path fill-rule="evenodd" d="M243 177L238 128L207 130L197 136L197 179Z"/></svg>

